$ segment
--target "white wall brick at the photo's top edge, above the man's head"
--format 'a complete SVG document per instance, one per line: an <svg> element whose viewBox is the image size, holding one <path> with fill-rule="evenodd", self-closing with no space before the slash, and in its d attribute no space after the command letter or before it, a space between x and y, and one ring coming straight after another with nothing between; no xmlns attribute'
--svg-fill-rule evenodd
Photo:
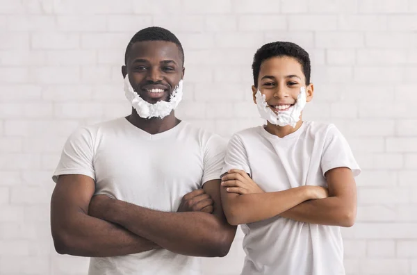
<svg viewBox="0 0 417 275"><path fill-rule="evenodd" d="M133 12L145 17L143 15L172 15L179 14L182 11L181 0L143 0L133 1ZM135 15L138 17L137 15ZM151 24L149 24L151 25ZM139 31L139 30L138 30Z"/></svg>

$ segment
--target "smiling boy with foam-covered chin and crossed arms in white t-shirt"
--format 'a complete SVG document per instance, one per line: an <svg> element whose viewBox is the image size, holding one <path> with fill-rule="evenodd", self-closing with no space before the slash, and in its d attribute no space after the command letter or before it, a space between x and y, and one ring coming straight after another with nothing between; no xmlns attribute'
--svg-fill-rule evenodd
<svg viewBox="0 0 417 275"><path fill-rule="evenodd" d="M221 190L228 222L245 233L242 274L345 274L339 226L354 224L360 169L336 126L301 119L313 98L309 54L265 44L252 69L268 123L231 138Z"/></svg>

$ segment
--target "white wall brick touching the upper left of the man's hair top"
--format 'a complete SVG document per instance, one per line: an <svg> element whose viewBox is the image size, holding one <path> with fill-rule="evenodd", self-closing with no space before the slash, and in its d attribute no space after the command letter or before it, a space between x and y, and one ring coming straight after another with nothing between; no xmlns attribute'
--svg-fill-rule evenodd
<svg viewBox="0 0 417 275"><path fill-rule="evenodd" d="M136 3L142 3L143 1L134 1L133 5ZM172 1L165 1L166 5L170 5ZM152 6L148 6L148 9ZM159 8L164 8L165 5L160 6ZM155 12L158 14L158 12ZM138 15L108 15L107 16L107 31L110 32L132 32L136 33L142 28L147 28L152 26L152 17L151 16L138 16Z"/></svg>

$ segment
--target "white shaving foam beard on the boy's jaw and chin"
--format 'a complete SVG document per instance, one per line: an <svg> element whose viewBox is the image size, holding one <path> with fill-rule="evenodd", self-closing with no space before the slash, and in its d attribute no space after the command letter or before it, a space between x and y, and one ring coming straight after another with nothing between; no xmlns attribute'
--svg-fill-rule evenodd
<svg viewBox="0 0 417 275"><path fill-rule="evenodd" d="M295 127L297 122L300 120L300 115L304 106L306 106L306 88L300 88L300 94L298 94L297 101L286 111L280 111L278 114L271 110L270 106L265 100L265 94L262 94L258 90L255 94L256 107L258 108L259 115L263 119L268 120L271 124L278 125L281 127L291 125Z"/></svg>

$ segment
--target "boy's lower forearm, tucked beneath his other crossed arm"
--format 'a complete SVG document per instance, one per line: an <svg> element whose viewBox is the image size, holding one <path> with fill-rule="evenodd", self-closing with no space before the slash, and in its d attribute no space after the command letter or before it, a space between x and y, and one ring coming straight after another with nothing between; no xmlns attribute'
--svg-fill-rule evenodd
<svg viewBox="0 0 417 275"><path fill-rule="evenodd" d="M339 197L329 197L305 201L280 216L309 224L349 227L354 224L356 208Z"/></svg>

